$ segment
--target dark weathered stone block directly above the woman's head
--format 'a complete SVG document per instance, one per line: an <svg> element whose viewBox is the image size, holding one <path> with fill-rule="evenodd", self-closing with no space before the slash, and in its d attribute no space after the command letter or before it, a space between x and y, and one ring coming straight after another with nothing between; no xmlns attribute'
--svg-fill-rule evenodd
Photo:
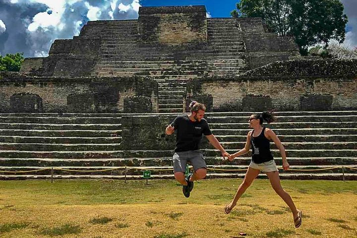
<svg viewBox="0 0 357 238"><path fill-rule="evenodd" d="M269 96L248 95L242 99L245 112L260 112L272 109L272 100Z"/></svg>

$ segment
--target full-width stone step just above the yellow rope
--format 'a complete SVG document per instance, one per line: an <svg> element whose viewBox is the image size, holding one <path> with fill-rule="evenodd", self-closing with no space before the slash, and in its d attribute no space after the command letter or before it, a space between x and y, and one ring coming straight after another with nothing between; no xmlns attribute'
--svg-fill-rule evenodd
<svg viewBox="0 0 357 238"><path fill-rule="evenodd" d="M282 165L282 159L276 157L275 162L278 166ZM222 157L205 157L208 166L217 165L241 165L248 166L250 157L237 157L233 161ZM289 157L288 162L291 166L326 166L335 167L336 165L357 166L356 157ZM0 158L0 166L172 166L171 157L161 158L102 158L102 159L65 159L65 158Z"/></svg>

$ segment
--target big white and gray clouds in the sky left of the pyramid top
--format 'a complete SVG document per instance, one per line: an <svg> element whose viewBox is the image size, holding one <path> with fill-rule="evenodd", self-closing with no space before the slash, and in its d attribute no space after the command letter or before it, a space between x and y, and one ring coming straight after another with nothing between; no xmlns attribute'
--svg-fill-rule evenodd
<svg viewBox="0 0 357 238"><path fill-rule="evenodd" d="M0 0L6 27L0 53L46 57L54 40L72 39L87 21L137 19L139 6L139 0Z"/></svg>

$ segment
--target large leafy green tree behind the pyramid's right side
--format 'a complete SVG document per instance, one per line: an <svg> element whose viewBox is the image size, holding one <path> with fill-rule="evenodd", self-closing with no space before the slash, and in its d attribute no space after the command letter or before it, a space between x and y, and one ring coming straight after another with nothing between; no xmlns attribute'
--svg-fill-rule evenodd
<svg viewBox="0 0 357 238"><path fill-rule="evenodd" d="M279 36L294 36L303 55L316 44L344 42L347 15L340 0L240 0L233 17L262 17Z"/></svg>

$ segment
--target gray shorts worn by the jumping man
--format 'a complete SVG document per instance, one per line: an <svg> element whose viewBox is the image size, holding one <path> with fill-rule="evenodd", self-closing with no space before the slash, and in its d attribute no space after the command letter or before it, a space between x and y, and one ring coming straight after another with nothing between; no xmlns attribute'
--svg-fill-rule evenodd
<svg viewBox="0 0 357 238"><path fill-rule="evenodd" d="M207 169L206 162L201 152L199 150L189 150L183 152L176 152L174 154L174 172L185 173L187 161L189 161L189 163L192 165L194 171L197 171L201 168Z"/></svg>

